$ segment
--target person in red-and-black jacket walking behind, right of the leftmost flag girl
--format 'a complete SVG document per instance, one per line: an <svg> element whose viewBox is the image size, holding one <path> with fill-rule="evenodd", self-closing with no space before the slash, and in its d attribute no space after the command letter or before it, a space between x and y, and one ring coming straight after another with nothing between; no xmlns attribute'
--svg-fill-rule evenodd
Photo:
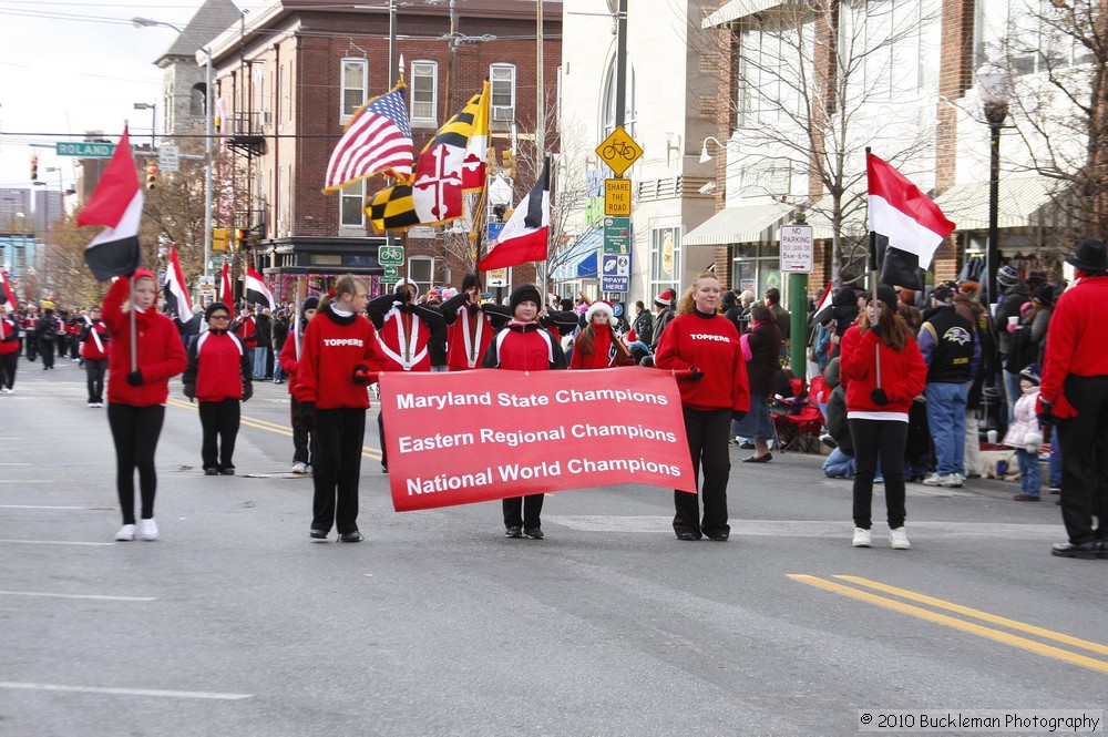
<svg viewBox="0 0 1108 737"><path fill-rule="evenodd" d="M230 308L214 301L204 310L208 329L188 342L185 396L201 403L201 461L205 475L235 475L235 439L242 403L254 396L253 357L230 331Z"/></svg>

